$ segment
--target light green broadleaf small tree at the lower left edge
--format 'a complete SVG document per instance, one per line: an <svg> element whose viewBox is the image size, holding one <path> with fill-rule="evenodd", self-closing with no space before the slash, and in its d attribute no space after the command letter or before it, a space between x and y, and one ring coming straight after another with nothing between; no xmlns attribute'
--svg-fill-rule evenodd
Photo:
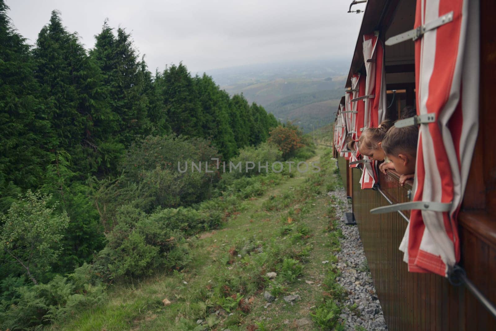
<svg viewBox="0 0 496 331"><path fill-rule="evenodd" d="M49 271L57 261L63 230L69 223L67 214L56 214L56 207L47 207L49 199L28 190L6 214L0 214L0 254L7 263L21 265L35 284L35 277Z"/></svg>

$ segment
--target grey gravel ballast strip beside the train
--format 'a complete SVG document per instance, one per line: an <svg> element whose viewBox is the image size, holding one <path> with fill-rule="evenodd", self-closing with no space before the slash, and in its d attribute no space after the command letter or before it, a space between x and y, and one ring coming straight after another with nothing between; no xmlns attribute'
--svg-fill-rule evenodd
<svg viewBox="0 0 496 331"><path fill-rule="evenodd" d="M340 239L341 251L336 254L338 258L337 266L341 271L341 276L336 280L347 290L348 299L345 305L356 303L357 309L349 311L344 309L340 318L346 322L346 330L355 330L362 327L366 330L387 330L387 325L382 313L372 276L367 266L364 247L358 227L356 225L344 224L344 213L351 211L351 205L347 202L344 191L329 192L329 196L334 196L345 202L347 208L337 213L338 228L343 231L344 238Z"/></svg>

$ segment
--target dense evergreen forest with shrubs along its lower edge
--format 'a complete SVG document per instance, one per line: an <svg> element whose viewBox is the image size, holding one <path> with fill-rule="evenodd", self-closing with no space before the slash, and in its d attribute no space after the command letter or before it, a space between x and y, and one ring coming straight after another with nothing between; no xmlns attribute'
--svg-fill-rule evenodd
<svg viewBox="0 0 496 331"><path fill-rule="evenodd" d="M54 10L29 46L7 11L0 0L0 324L14 330L47 323L61 303L42 286L69 286L74 268L67 293L91 293L85 263L106 280L176 263L169 238L220 220L187 207L219 176L177 161L232 159L278 123L183 64L151 73L124 28L104 22L87 51Z"/></svg>

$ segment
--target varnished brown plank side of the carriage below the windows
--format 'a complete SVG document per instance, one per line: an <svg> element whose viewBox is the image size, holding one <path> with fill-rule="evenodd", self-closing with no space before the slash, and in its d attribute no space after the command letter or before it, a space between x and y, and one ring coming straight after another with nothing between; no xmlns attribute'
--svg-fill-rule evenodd
<svg viewBox="0 0 496 331"><path fill-rule="evenodd" d="M346 164L343 160L339 158L340 168ZM496 320L464 286L452 286L434 274L408 272L398 250L407 223L398 213L370 214L370 209L388 202L377 191L361 190L360 174L353 169L348 178L354 213L389 330L496 330ZM394 172L381 174L381 190L395 203L408 201L411 186L400 187L397 178ZM466 222L460 222L462 264L474 284L496 302L496 242L480 232L487 228L474 230Z"/></svg>

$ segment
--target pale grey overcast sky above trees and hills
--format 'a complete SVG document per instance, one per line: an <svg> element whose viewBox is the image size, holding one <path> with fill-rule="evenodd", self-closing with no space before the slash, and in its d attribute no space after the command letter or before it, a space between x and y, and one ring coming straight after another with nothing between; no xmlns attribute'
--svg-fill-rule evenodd
<svg viewBox="0 0 496 331"><path fill-rule="evenodd" d="M53 9L94 45L105 18L132 33L149 69L180 61L190 71L317 58L350 59L362 14L351 0L5 0L34 44ZM355 7L364 9L365 4Z"/></svg>

